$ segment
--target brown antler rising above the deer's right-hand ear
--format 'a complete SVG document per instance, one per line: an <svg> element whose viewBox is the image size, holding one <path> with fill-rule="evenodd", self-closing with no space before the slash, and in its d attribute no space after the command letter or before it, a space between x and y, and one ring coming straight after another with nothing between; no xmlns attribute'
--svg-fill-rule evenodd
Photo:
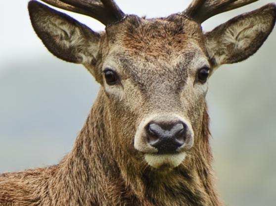
<svg viewBox="0 0 276 206"><path fill-rule="evenodd" d="M202 23L219 13L253 3L257 0L193 0L184 15Z"/></svg>

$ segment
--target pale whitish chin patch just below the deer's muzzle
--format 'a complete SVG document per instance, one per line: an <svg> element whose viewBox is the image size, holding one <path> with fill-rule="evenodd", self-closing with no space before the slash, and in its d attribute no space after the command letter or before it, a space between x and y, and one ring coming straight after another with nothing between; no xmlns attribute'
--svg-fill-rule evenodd
<svg viewBox="0 0 276 206"><path fill-rule="evenodd" d="M184 152L177 154L145 154L145 161L153 168L175 168L185 159Z"/></svg>

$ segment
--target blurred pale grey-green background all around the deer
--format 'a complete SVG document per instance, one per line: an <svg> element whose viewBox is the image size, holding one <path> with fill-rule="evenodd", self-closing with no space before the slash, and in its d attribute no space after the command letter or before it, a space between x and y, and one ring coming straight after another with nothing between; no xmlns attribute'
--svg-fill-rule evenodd
<svg viewBox="0 0 276 206"><path fill-rule="evenodd" d="M31 28L28 0L0 2L0 172L56 164L70 151L98 91L79 65L48 53ZM189 0L117 0L126 13L179 12ZM211 30L261 0L211 18ZM71 13L70 13L71 15ZM103 26L72 14L95 31ZM209 81L217 185L229 206L276 205L276 30L248 60L222 66Z"/></svg>

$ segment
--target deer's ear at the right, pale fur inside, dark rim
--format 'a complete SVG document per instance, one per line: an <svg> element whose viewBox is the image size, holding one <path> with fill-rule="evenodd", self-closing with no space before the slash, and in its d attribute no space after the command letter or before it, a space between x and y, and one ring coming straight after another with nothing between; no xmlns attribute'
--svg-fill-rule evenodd
<svg viewBox="0 0 276 206"><path fill-rule="evenodd" d="M240 62L253 55L272 32L275 21L276 5L271 3L206 33L207 51L215 66Z"/></svg>

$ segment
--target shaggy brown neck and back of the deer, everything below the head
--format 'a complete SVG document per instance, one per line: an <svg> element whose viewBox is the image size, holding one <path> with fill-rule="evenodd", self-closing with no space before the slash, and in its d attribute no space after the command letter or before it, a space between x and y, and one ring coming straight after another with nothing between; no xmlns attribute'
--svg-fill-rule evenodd
<svg viewBox="0 0 276 206"><path fill-rule="evenodd" d="M57 165L0 175L0 201L20 206L221 206L213 187L208 114L204 111L195 148L172 171L114 157L109 112L103 91L92 107L72 151ZM116 154L118 155L118 154ZM12 181L1 182L9 178ZM11 183L10 183L11 182ZM33 185L36 185L33 187ZM24 191L14 190L23 187Z"/></svg>

